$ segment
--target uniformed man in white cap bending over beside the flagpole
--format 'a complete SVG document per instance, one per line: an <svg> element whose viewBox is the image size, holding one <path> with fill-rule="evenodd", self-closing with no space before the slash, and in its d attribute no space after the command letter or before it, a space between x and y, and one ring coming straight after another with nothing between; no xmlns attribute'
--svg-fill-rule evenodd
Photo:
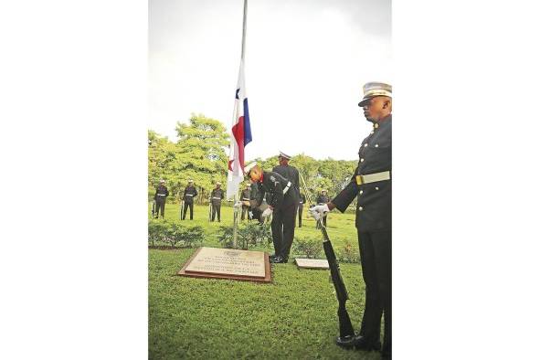
<svg viewBox="0 0 540 360"><path fill-rule="evenodd" d="M257 206L260 206L265 194L271 195L269 208L262 213L262 217L272 215L271 229L275 254L270 256L270 262L287 262L294 238L298 193L290 180L273 171L262 171L256 163L246 166L245 171L258 187Z"/></svg>

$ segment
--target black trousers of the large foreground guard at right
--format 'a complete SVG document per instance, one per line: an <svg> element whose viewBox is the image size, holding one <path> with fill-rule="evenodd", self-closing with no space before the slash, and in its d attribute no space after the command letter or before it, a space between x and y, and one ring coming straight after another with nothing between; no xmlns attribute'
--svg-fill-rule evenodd
<svg viewBox="0 0 540 360"><path fill-rule="evenodd" d="M365 311L360 334L376 342L385 314L383 352L392 348L392 231L362 232L358 229L360 262L365 282Z"/></svg>

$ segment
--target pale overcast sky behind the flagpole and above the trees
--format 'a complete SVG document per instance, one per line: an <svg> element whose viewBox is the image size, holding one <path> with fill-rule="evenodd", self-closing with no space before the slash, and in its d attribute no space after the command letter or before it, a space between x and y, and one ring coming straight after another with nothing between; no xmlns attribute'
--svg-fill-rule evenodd
<svg viewBox="0 0 540 360"><path fill-rule="evenodd" d="M149 4L149 128L176 140L195 112L230 129L243 0ZM391 56L390 0L249 0L247 158L356 159L362 85L391 83Z"/></svg>

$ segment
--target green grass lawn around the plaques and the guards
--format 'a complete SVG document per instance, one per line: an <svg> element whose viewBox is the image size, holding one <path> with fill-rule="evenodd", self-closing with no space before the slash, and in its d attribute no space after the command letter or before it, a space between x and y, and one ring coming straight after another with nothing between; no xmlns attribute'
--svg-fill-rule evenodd
<svg viewBox="0 0 540 360"><path fill-rule="evenodd" d="M165 217L177 219L178 205L167 204ZM232 224L232 208L222 208L221 221ZM220 247L215 237L219 223L208 223L206 206L196 206L192 222L206 229L204 246ZM297 236L320 237L312 219L302 223ZM328 225L336 247L347 237L356 241L354 215L333 213ZM176 276L194 251L149 249L149 358L380 358L334 344L337 301L328 270L298 270L290 260L272 265L268 284ZM341 270L357 331L364 309L361 268L342 264Z"/></svg>

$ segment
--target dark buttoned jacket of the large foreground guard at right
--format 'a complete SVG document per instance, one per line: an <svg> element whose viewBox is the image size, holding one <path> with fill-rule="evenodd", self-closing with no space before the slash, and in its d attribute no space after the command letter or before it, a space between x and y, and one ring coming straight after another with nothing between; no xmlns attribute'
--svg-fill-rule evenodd
<svg viewBox="0 0 540 360"><path fill-rule="evenodd" d="M368 175L392 170L392 115L374 124L358 151L355 175ZM351 182L332 202L344 212L357 197L356 228L360 231L390 230L392 228L392 180L356 185ZM391 175L390 175L391 176Z"/></svg>

